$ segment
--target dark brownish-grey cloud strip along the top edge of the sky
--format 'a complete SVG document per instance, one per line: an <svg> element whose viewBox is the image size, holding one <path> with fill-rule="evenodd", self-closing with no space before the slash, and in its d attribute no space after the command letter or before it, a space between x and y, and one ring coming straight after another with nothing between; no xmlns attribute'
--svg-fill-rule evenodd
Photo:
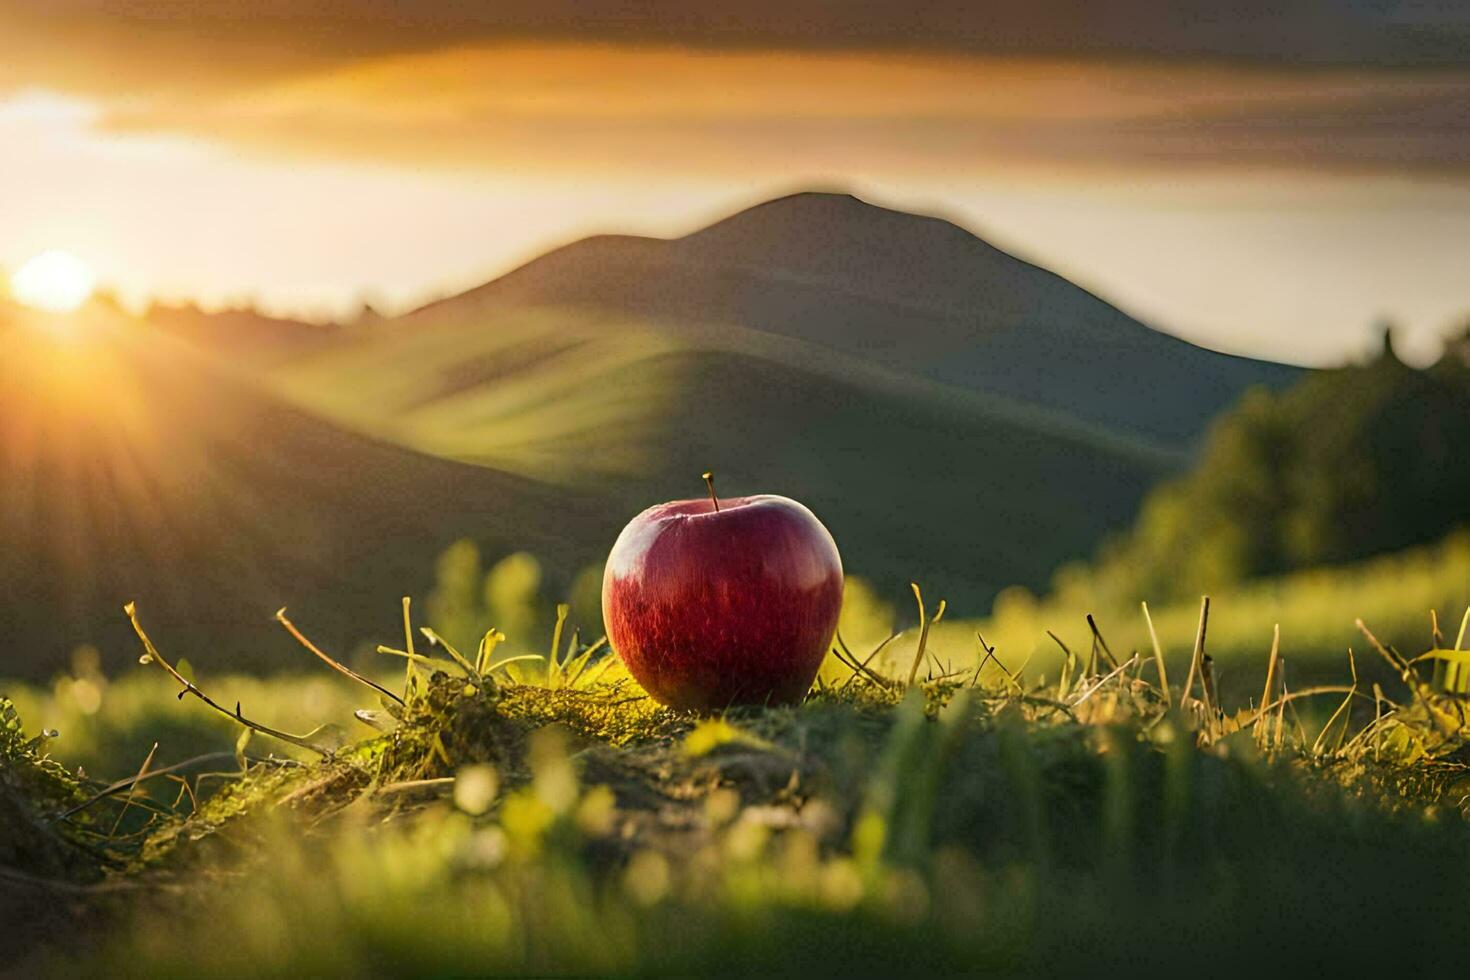
<svg viewBox="0 0 1470 980"><path fill-rule="evenodd" d="M147 88L492 43L1411 68L1463 66L1467 26L1436 0L6 0L0 63Z"/></svg>

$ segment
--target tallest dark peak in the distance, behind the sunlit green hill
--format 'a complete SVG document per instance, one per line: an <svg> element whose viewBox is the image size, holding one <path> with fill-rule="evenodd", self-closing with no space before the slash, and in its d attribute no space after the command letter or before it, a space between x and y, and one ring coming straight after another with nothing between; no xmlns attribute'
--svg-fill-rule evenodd
<svg viewBox="0 0 1470 980"><path fill-rule="evenodd" d="M526 306L744 326L1175 448L1251 385L1299 373L1161 334L954 223L848 194L782 197L676 239L588 238L410 320Z"/></svg>

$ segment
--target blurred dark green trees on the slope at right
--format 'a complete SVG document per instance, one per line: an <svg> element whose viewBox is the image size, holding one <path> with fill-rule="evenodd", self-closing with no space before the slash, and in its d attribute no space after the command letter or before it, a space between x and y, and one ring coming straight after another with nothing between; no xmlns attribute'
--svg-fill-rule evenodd
<svg viewBox="0 0 1470 980"><path fill-rule="evenodd" d="M1423 545L1466 522L1470 366L1451 347L1404 364L1385 331L1367 364L1250 391L1195 467L1130 530L1055 576L1055 592L1164 601Z"/></svg>

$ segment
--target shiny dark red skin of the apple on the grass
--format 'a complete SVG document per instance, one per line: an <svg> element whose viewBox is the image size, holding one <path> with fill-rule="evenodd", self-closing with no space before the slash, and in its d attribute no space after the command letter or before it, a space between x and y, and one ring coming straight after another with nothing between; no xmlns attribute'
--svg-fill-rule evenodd
<svg viewBox="0 0 1470 980"><path fill-rule="evenodd" d="M659 702L691 711L806 696L842 610L842 558L810 510L761 494L650 507L603 574L613 649Z"/></svg>

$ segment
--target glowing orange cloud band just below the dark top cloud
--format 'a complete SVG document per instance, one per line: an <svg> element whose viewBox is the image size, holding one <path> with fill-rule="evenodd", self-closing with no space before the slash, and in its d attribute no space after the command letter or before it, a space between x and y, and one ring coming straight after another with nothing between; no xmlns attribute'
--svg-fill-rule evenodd
<svg viewBox="0 0 1470 980"><path fill-rule="evenodd" d="M1470 72L492 44L115 106L119 131L513 172L1470 170Z"/></svg>

